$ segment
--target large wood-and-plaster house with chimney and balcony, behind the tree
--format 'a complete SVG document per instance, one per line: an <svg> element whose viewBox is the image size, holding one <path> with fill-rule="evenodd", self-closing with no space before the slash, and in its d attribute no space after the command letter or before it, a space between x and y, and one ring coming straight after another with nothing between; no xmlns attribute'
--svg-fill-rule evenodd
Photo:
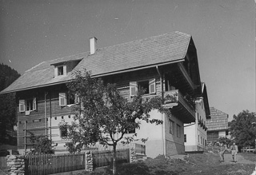
<svg viewBox="0 0 256 175"><path fill-rule="evenodd" d="M116 83L128 100L140 88L146 89L146 97L173 96L165 105L171 116L157 110L150 113L152 118L162 119L163 125L142 122L134 132L138 138L148 138L148 157L185 152L183 124L195 121L195 107L188 99L201 96L202 87L192 37L173 32L101 49L96 47L96 38L90 38L90 52L42 62L27 70L1 92L17 94L20 153L30 148L29 132L50 137L58 143L56 151L65 149L65 133L59 123L72 121L70 106L76 101L69 97L66 82L74 71L85 68L93 78Z"/></svg>

